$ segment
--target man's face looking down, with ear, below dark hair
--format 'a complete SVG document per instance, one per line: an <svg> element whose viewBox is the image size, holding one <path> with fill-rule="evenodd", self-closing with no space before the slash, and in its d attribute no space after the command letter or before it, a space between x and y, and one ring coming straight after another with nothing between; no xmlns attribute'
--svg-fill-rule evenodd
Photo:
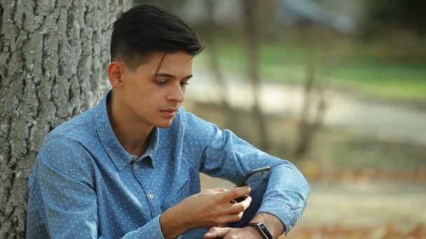
<svg viewBox="0 0 426 239"><path fill-rule="evenodd" d="M167 53L160 64L163 56L164 53L155 54L133 70L125 67L123 86L117 91L125 107L123 117L147 126L172 124L192 77L192 56L184 52Z"/></svg>

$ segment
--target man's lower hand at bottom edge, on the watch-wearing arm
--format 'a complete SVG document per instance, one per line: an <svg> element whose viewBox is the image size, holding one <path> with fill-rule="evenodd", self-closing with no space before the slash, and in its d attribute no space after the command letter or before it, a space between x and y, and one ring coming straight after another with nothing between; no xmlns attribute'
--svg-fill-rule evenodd
<svg viewBox="0 0 426 239"><path fill-rule="evenodd" d="M254 226L246 226L242 229L233 229L231 227L213 227L207 233L204 238L224 238L224 239L237 239L237 238L259 238L263 239L263 236L257 231Z"/></svg>

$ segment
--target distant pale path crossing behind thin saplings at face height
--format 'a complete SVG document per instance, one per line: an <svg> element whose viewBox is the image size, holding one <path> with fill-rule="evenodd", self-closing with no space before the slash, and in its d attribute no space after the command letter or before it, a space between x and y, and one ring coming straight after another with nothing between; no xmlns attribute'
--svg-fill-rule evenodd
<svg viewBox="0 0 426 239"><path fill-rule="evenodd" d="M229 77L228 77L229 78ZM250 108L252 88L242 79L227 80L232 106ZM189 100L219 102L221 88L207 73L197 71L186 96ZM426 94L426 93L425 93ZM265 113L297 116L303 103L303 89L298 86L264 84L261 87L261 108ZM361 133L372 133L385 140L426 145L426 112L362 101L339 92L326 93L328 110L326 126L344 126Z"/></svg>

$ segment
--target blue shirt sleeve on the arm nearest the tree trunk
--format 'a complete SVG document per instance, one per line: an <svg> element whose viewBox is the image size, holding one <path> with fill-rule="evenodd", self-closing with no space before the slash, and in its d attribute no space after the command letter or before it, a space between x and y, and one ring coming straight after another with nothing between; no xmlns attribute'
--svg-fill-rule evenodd
<svg viewBox="0 0 426 239"><path fill-rule="evenodd" d="M49 138L36 164L50 238L102 238L97 230L95 177L83 147L68 138ZM159 216L123 238L164 238Z"/></svg>

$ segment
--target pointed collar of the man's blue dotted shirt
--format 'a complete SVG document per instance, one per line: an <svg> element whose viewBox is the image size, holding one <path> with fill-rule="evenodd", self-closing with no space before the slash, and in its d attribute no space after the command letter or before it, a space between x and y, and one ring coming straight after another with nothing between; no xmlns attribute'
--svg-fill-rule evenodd
<svg viewBox="0 0 426 239"><path fill-rule="evenodd" d="M93 113L93 120L95 121L95 126L99 139L104 147L104 150L107 151L111 161L113 161L116 168L121 171L126 165L131 161L143 159L151 159L151 166L154 167L154 156L158 148L159 141L159 131L157 127L153 128L151 134L148 138L148 146L146 151L142 154L141 157L135 157L134 155L128 153L121 143L116 138L114 131L112 130L111 124L109 122L109 117L107 113L107 101L111 96L111 91L109 91L102 100L95 106Z"/></svg>

